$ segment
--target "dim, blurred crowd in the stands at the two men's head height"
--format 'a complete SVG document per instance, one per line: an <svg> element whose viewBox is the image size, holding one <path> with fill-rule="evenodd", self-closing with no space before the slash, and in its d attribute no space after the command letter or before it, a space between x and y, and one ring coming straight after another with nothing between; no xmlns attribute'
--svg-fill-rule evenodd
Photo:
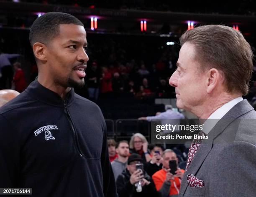
<svg viewBox="0 0 256 197"><path fill-rule="evenodd" d="M31 47L19 37L26 37L27 33L1 32L1 89L10 89L13 81L13 89L22 92L37 76ZM7 39L8 35L13 39ZM87 50L90 60L87 63L86 86L75 90L79 95L95 102L99 97L117 98L120 95L142 102L154 98L175 98L175 89L169 85L169 77L176 68L178 40L175 45L167 46L166 39L161 37L95 34L88 34L87 37L90 40ZM18 47L8 47L14 46L17 40L20 40ZM256 100L255 79L253 73L250 92L246 97L251 103Z"/></svg>

